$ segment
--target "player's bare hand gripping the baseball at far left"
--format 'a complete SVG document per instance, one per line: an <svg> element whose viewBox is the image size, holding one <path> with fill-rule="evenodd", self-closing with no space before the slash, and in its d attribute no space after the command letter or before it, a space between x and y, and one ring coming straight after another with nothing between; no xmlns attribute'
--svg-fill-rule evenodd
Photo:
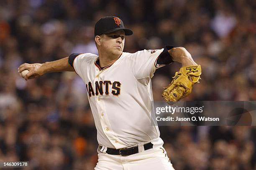
<svg viewBox="0 0 256 170"><path fill-rule="evenodd" d="M18 73L23 72L24 70L28 70L29 72L24 77L25 80L32 79L39 77L44 74L44 69L42 67L43 64L40 63L34 63L34 64L28 64L23 63L18 67Z"/></svg>

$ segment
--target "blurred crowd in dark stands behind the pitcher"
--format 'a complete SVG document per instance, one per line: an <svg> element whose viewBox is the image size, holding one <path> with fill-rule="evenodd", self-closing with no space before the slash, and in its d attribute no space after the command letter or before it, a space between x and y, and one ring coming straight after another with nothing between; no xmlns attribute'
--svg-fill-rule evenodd
<svg viewBox="0 0 256 170"><path fill-rule="evenodd" d="M0 160L26 170L92 170L96 129L85 85L74 72L23 80L23 62L97 54L94 25L120 17L134 35L125 52L183 46L202 65L186 100L256 100L255 0L0 0ZM179 63L158 69L154 100ZM176 170L256 169L253 126L161 126Z"/></svg>

